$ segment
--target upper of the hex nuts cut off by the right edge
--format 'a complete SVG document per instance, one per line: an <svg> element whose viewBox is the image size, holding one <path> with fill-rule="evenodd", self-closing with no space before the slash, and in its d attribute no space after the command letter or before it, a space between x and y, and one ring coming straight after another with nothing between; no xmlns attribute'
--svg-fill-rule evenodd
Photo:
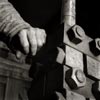
<svg viewBox="0 0 100 100"><path fill-rule="evenodd" d="M100 38L96 38L89 43L90 51L95 55L100 55Z"/></svg>

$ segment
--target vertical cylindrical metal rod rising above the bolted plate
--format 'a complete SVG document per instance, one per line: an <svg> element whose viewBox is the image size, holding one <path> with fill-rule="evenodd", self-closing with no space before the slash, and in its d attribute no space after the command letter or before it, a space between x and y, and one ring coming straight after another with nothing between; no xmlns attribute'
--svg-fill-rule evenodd
<svg viewBox="0 0 100 100"><path fill-rule="evenodd" d="M76 0L63 0L62 22L73 26L76 23Z"/></svg>

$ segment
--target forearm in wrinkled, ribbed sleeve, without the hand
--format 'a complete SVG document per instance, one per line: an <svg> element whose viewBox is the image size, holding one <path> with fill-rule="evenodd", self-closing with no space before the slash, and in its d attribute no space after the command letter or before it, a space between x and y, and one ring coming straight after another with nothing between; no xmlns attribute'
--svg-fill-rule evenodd
<svg viewBox="0 0 100 100"><path fill-rule="evenodd" d="M0 0L0 32L12 38L16 33L30 25L26 23L7 0Z"/></svg>

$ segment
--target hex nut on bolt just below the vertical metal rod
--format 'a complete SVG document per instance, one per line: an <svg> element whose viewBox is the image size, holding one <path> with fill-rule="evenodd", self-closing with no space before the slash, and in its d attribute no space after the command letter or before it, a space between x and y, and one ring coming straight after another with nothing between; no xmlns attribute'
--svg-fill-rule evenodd
<svg viewBox="0 0 100 100"><path fill-rule="evenodd" d="M74 25L72 28L70 28L67 34L68 34L69 40L73 42L74 44L79 44L85 38L84 30L78 25Z"/></svg>

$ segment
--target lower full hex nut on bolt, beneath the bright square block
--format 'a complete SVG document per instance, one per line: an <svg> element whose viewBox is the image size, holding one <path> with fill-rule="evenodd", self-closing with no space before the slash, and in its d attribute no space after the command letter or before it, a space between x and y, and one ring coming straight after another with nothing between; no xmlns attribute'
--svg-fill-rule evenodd
<svg viewBox="0 0 100 100"><path fill-rule="evenodd" d="M71 89L77 89L85 86L86 77L81 69L73 68L66 72L65 81Z"/></svg>

